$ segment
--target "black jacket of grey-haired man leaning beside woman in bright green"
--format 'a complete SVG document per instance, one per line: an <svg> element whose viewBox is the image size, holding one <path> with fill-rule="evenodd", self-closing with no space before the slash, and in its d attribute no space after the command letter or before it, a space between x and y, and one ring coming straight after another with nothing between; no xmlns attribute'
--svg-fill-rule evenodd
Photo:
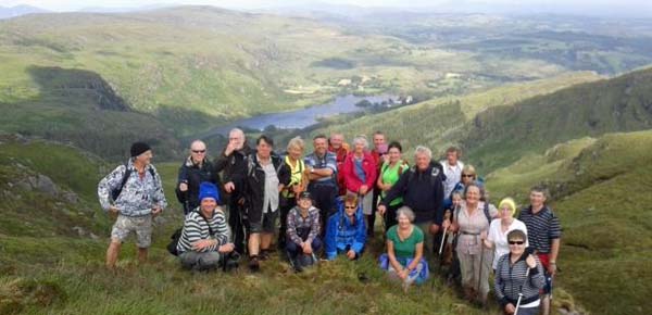
<svg viewBox="0 0 652 315"><path fill-rule="evenodd" d="M401 174L380 204L387 206L397 197L403 197L403 204L416 216L415 223L434 220L440 225L443 220L442 176L443 172L435 165L429 165L425 172L412 166Z"/></svg>

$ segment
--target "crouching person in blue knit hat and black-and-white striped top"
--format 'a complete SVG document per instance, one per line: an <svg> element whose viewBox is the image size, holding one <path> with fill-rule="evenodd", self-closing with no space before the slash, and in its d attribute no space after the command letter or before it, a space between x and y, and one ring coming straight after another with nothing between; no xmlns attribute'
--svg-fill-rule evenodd
<svg viewBox="0 0 652 315"><path fill-rule="evenodd" d="M222 209L217 187L202 182L199 188L200 205L186 216L177 244L181 266L192 270L215 269L224 256L234 250L230 232Z"/></svg>

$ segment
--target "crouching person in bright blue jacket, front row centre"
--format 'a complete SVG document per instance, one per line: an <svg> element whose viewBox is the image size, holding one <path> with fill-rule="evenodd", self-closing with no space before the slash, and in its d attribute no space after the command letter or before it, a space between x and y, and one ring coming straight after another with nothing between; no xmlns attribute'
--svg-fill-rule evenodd
<svg viewBox="0 0 652 315"><path fill-rule="evenodd" d="M366 224L358 194L349 193L338 204L338 212L328 218L324 237L326 259L346 254L350 261L358 260L366 243Z"/></svg>

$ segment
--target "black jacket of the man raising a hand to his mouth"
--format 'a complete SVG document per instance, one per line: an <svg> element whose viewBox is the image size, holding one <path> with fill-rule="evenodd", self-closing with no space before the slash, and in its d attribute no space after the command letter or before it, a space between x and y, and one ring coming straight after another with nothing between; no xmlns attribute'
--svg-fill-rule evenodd
<svg viewBox="0 0 652 315"><path fill-rule="evenodd" d="M224 155L224 151L222 151L220 156L215 158L215 173L222 172L224 184L233 181L236 186L235 192L231 194L234 200L243 197L244 178L247 177L247 156L249 156L252 151L253 150L244 143L242 149L231 152L228 156Z"/></svg>

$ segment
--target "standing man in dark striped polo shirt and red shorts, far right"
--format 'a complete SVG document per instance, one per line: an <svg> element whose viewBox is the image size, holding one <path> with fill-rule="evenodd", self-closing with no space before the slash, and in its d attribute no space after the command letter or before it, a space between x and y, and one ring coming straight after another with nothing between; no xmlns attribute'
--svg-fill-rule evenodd
<svg viewBox="0 0 652 315"><path fill-rule="evenodd" d="M560 219L546 205L548 196L548 189L534 187L530 190L530 205L523 209L518 215L518 219L527 227L528 242L536 250L539 261L546 269L546 287L541 297L543 315L550 314L552 278L556 273L556 257L562 238Z"/></svg>

